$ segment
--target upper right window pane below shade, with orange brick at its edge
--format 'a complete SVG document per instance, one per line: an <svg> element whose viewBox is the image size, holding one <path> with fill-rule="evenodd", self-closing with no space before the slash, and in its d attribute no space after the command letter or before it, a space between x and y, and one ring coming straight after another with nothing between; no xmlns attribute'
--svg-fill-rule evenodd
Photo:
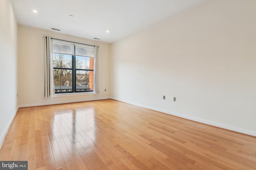
<svg viewBox="0 0 256 170"><path fill-rule="evenodd" d="M94 70L94 58L76 56L76 68Z"/></svg>

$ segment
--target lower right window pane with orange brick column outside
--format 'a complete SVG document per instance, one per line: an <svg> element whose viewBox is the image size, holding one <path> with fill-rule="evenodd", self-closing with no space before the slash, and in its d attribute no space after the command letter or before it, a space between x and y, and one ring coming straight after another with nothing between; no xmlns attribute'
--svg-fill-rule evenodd
<svg viewBox="0 0 256 170"><path fill-rule="evenodd" d="M93 90L93 71L76 70L76 91Z"/></svg>

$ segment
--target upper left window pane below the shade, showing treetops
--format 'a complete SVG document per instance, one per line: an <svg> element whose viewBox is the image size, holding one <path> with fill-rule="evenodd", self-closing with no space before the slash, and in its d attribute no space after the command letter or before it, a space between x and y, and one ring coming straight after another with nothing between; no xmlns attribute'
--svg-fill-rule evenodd
<svg viewBox="0 0 256 170"><path fill-rule="evenodd" d="M53 67L72 68L72 55L52 54Z"/></svg>

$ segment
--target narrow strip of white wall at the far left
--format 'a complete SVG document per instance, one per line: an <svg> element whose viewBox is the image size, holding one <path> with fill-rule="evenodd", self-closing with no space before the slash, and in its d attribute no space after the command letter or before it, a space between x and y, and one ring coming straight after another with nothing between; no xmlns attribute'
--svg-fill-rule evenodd
<svg viewBox="0 0 256 170"><path fill-rule="evenodd" d="M17 111L17 23L10 0L0 0L0 145Z"/></svg>

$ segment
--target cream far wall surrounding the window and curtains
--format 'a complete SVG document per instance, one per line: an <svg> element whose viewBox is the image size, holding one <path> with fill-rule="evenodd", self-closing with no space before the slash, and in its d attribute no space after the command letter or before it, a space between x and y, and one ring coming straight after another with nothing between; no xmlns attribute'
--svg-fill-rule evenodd
<svg viewBox="0 0 256 170"><path fill-rule="evenodd" d="M100 58L100 94L44 98L43 36L98 45ZM104 91L106 89L106 92ZM110 44L91 41L52 31L18 25L18 104L20 107L39 106L110 97ZM79 94L80 95L80 94Z"/></svg>

